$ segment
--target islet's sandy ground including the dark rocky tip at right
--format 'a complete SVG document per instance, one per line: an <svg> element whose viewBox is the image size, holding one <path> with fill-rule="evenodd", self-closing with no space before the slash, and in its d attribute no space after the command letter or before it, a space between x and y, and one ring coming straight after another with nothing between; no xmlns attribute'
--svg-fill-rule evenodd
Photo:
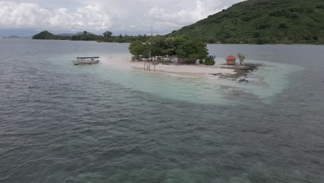
<svg viewBox="0 0 324 183"><path fill-rule="evenodd" d="M109 67L118 67L119 69L129 70L143 70L147 69L144 67L144 62L132 62L131 57L125 56L107 56L103 57L101 64L105 64ZM253 67L254 68L254 67ZM228 66L224 62L216 60L214 66L207 66L204 64L156 64L155 71L159 73L167 73L172 76L182 77L213 77L213 78L239 78L244 76L246 71L253 69L250 66ZM154 64L151 64L151 71L154 71Z"/></svg>

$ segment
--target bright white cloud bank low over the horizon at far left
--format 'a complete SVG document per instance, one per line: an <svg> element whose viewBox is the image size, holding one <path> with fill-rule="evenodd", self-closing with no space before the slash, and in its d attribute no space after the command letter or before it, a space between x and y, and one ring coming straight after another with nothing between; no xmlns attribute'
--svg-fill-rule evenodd
<svg viewBox="0 0 324 183"><path fill-rule="evenodd" d="M2 28L35 28L39 30L105 30L111 26L109 17L98 6L84 6L75 12L67 8L46 10L37 3L0 1Z"/></svg>

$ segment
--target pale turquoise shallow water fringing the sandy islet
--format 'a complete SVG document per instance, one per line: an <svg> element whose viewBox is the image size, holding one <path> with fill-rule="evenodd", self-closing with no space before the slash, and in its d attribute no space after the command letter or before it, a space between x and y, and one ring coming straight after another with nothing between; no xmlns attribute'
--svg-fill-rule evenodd
<svg viewBox="0 0 324 183"><path fill-rule="evenodd" d="M120 69L109 67L107 64L75 68L71 64L66 64L66 60L71 60L71 58L73 58L72 55L60 55L50 58L49 61L57 64L55 66L57 68L63 67L62 69L71 72L93 73L98 78L109 80L138 92L146 92L158 98L202 104L228 105L244 101L247 98L271 103L276 99L276 94L280 94L283 89L289 86L290 74L298 73L304 69L304 67L293 64L246 60L246 62L263 64L263 66L248 76L249 83L240 83L231 79L217 80L214 76L181 77L177 74ZM114 57L108 57L107 62L109 59L114 59ZM224 62L222 59L216 58L217 62L221 63Z"/></svg>

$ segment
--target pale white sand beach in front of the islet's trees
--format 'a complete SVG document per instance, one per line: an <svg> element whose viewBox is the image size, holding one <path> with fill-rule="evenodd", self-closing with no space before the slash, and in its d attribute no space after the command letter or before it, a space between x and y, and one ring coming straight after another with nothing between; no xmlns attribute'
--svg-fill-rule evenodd
<svg viewBox="0 0 324 183"><path fill-rule="evenodd" d="M136 69L144 71L144 62L132 62L130 57L125 56L102 57L101 64L105 64L109 67L117 67L119 69ZM155 71L183 77L206 77L211 76L210 74L212 73L235 74L234 69L225 69L221 68L221 66L224 67L224 65L220 63L214 66L206 66L203 64L156 64ZM151 71L154 71L153 64L151 64Z"/></svg>

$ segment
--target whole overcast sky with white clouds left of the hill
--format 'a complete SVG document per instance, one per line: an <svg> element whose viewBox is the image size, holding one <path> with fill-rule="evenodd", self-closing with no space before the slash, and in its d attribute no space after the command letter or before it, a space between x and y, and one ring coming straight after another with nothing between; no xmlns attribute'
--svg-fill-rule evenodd
<svg viewBox="0 0 324 183"><path fill-rule="evenodd" d="M242 0L0 0L0 35L170 33Z"/></svg>

